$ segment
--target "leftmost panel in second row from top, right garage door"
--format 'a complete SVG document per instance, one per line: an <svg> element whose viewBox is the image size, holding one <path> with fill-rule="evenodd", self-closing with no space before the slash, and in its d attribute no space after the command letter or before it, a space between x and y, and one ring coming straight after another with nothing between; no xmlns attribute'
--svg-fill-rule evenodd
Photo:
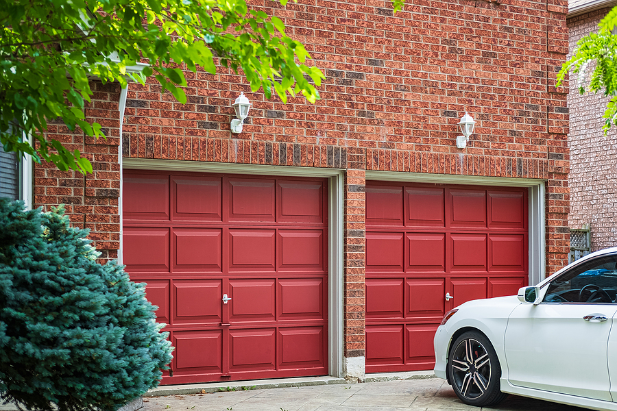
<svg viewBox="0 0 617 411"><path fill-rule="evenodd" d="M367 271L403 271L403 234L366 233Z"/></svg>

